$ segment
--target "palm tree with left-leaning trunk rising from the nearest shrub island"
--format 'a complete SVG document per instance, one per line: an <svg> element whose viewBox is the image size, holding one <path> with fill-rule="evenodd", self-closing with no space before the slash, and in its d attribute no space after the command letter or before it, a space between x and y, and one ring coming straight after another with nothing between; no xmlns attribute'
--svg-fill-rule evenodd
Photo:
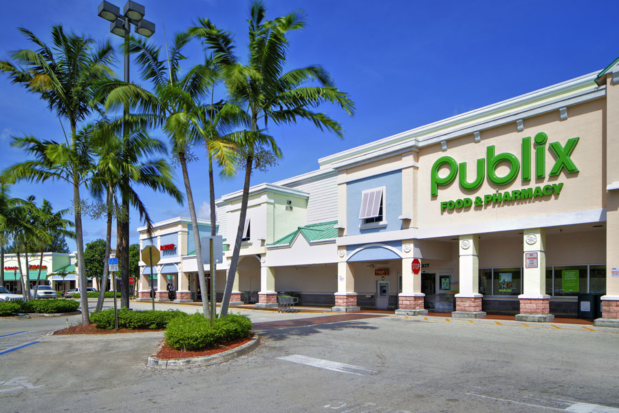
<svg viewBox="0 0 619 413"><path fill-rule="evenodd" d="M210 311L208 311L208 297L206 297L202 246L187 171L187 158L190 160L193 158L191 147L197 142L197 137L192 133L191 123L188 122L188 112L191 108L198 106L197 102L206 95L208 87L213 85L217 73L211 65L204 64L196 65L184 76L180 76L180 61L185 59L182 49L190 40L191 36L187 33L175 35L166 65L166 61L159 57L159 47L141 39L132 39L131 52L138 54L136 60L142 65L142 78L153 83L153 92L138 85L113 81L100 89L100 96L107 95L105 103L107 109L124 104L141 107L142 116L148 119L151 125L162 126L170 138L172 152L183 174L189 215L193 226L198 280L202 291L202 310L204 317L207 317ZM211 305L214 306L215 303Z"/></svg>

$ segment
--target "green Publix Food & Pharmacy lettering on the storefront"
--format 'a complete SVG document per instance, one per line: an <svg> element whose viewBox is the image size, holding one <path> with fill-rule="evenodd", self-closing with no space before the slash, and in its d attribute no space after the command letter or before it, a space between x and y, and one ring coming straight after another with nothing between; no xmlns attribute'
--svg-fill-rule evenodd
<svg viewBox="0 0 619 413"><path fill-rule="evenodd" d="M434 162L431 171L431 186L430 191L432 196L438 195L439 187L445 186L453 182L456 177L461 189L466 191L475 191L481 187L484 180L497 185L507 185L513 182L519 173L523 182L531 180L533 174L535 178L545 178L546 176L546 151L554 154L556 158L554 165L550 169L548 176L556 176L563 169L567 173L578 172L578 168L574 161L570 158L576 144L580 138L571 138L565 142L565 146L561 142L550 142L547 144L548 136L544 132L535 135L532 140L530 136L523 138L521 146L521 158L517 158L513 153L503 152L496 153L495 145L490 145L486 148L486 158L477 160L477 169L475 179L467 180L467 164L466 162L456 162L451 156L443 156ZM509 170L504 176L497 174L499 165L508 165ZM443 178L439 177L438 171L446 165L448 173ZM459 200L450 200L441 202L441 211L446 209L457 209L462 207L470 207L475 205L484 205L501 203L511 200L521 200L527 198L536 198L538 196L552 195L560 193L563 184L549 184L543 187L527 188L516 191L506 191L505 193L493 193L482 196L477 196L475 200L471 198L463 198Z"/></svg>

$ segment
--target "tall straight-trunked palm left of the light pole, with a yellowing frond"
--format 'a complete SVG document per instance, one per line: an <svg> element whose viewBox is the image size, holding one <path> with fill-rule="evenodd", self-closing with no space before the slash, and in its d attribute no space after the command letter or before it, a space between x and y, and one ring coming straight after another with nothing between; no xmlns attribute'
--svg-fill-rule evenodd
<svg viewBox="0 0 619 413"><path fill-rule="evenodd" d="M19 29L37 50L18 50L12 53L12 59L17 65L8 61L0 61L0 70L6 72L13 83L19 83L30 92L39 94L48 107L65 118L71 127L71 144L64 147L55 142L51 149L58 153L39 152L42 157L41 169L35 174L23 171L21 174L30 180L45 180L59 178L67 180L73 187L73 205L75 211L75 235L77 247L78 268L80 268L80 285L87 285L84 271L84 242L81 217L80 184L87 176L88 168L81 162L82 156L89 157L87 149L78 151L78 122L85 120L91 114L91 100L94 89L100 81L112 74L109 64L113 60L113 48L108 43L94 47L94 41L73 32L65 33L61 25L52 28L52 47L45 44L34 33L25 28ZM53 51L52 51L53 50ZM31 147L30 143L24 145ZM36 144L32 142L32 149ZM87 148L87 145L86 145ZM41 147L41 149L43 149ZM69 156L69 153L71 154ZM62 178L61 178L62 177ZM80 295L82 306L82 324L90 324L88 301L86 294Z"/></svg>

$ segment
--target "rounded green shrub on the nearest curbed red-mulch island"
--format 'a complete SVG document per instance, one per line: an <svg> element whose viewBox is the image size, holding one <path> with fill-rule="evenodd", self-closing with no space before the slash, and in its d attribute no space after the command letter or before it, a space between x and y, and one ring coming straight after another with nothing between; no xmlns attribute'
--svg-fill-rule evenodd
<svg viewBox="0 0 619 413"><path fill-rule="evenodd" d="M216 319L213 327L210 320L200 313L173 319L166 328L166 343L176 350L203 350L233 339L247 337L252 322L244 315L229 314Z"/></svg>

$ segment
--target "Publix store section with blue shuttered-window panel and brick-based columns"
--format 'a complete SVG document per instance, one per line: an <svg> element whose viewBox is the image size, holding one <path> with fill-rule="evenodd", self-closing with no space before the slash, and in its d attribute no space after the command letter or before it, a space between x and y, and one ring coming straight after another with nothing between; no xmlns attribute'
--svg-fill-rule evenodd
<svg viewBox="0 0 619 413"><path fill-rule="evenodd" d="M321 160L338 171L336 308L382 284L403 314L616 323L618 83L615 61Z"/></svg>

